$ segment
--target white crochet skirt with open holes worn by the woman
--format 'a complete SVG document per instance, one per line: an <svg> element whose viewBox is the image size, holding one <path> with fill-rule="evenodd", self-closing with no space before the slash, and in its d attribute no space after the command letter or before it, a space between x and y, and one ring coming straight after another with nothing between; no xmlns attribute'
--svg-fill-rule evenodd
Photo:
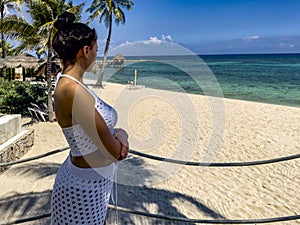
<svg viewBox="0 0 300 225"><path fill-rule="evenodd" d="M51 225L104 224L115 163L79 168L68 157L58 170L51 200Z"/></svg>

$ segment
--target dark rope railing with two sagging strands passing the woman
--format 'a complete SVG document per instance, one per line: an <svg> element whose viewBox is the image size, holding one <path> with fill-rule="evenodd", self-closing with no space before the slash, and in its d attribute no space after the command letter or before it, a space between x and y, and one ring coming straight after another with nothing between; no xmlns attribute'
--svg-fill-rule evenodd
<svg viewBox="0 0 300 225"><path fill-rule="evenodd" d="M64 152L68 150L69 147L59 148L44 154L40 154L34 157L21 159L13 162L6 162L6 163L0 163L0 167L8 167L16 164L21 164L25 162L30 162L33 160L41 159L50 155L58 154L61 152ZM270 164L270 163L278 163L283 161L289 161L289 160L295 160L300 158L300 154L295 154L291 156L286 157L280 157L280 158L274 158L274 159L268 159L268 160L259 160L259 161L251 161L251 162L221 162L221 163L213 163L213 162L190 162L190 161L183 161L183 160L176 160L176 159L170 159L170 158L164 158L159 156L154 156L146 153L142 153L136 150L129 150L130 154L137 155L140 157L156 160L156 161L164 161L167 163L175 163L175 164L181 164L186 166L205 166L205 167L238 167L238 166L257 166L257 165L264 165L264 164ZM183 217L174 217L174 216L166 216L166 215L160 215L160 214L152 214L147 212L141 212L136 211L133 209L123 208L120 206L115 205L109 205L108 206L112 210L118 210L119 212L129 213L133 215L139 215L144 216L148 218L154 218L154 219L162 219L162 220L168 220L168 221L177 221L177 222L186 222L186 223L194 223L194 224L262 224L262 223L276 223L276 222L284 222L284 221L292 221L292 220L299 220L300 215L291 215L291 216L284 216L284 217L274 217L274 218L263 218L263 219L244 219L244 220L226 220L226 219L214 219L214 220L208 220L208 219L190 219L190 218L183 218ZM22 218L17 219L10 222L4 222L0 223L0 225L14 225L14 224L21 224L31 221L36 221L44 218L48 218L51 216L51 213L45 213L42 215L37 215L33 217L28 218Z"/></svg>

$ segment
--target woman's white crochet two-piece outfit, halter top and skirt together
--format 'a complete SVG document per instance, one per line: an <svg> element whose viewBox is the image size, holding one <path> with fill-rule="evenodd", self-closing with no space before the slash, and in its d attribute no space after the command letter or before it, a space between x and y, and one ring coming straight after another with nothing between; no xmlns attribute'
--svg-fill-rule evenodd
<svg viewBox="0 0 300 225"><path fill-rule="evenodd" d="M59 75L57 80L60 77L78 82L68 75ZM117 123L116 111L91 90L87 90L94 96L95 108L113 133ZM63 133L71 148L70 155L82 156L97 150L79 124L63 128ZM56 175L51 200L51 224L104 224L114 172L115 163L99 168L79 168L72 164L69 156Z"/></svg>

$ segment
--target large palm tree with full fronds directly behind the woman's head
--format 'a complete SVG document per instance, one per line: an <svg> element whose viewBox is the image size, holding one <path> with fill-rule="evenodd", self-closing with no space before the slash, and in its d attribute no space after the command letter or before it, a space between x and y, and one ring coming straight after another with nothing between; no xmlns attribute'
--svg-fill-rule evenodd
<svg viewBox="0 0 300 225"><path fill-rule="evenodd" d="M80 19L84 3L73 6L72 2L66 3L65 0L24 0L24 2L32 22L29 23L23 18L10 16L4 21L4 29L11 37L15 37L22 42L19 49L35 49L37 55L46 53L47 66L45 76L47 80L48 114L49 121L53 122L51 82L52 39L55 34L53 24L57 16L66 10L79 15L77 19Z"/></svg>

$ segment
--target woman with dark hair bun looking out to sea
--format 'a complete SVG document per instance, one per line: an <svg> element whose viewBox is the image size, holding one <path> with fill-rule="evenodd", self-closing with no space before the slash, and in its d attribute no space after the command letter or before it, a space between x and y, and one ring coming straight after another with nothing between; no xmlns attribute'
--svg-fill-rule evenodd
<svg viewBox="0 0 300 225"><path fill-rule="evenodd" d="M52 193L51 223L105 223L115 163L128 154L127 134L114 129L116 111L83 83L85 71L97 57L94 29L61 14L52 46L63 63L54 92L56 119L70 145Z"/></svg>

